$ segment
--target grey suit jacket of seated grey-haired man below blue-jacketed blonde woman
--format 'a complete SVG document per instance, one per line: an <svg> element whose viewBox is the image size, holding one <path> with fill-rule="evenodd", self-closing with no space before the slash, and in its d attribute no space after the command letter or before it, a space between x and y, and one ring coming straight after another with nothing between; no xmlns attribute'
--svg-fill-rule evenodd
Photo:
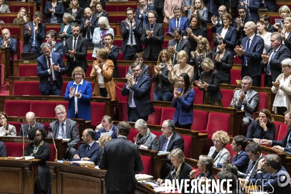
<svg viewBox="0 0 291 194"><path fill-rule="evenodd" d="M55 120L52 123L49 123L49 127L52 129L53 138L58 137L59 128L60 128L60 122L59 120ZM76 121L73 121L71 119L66 119L65 121L65 137L67 139L70 139L68 141L68 147L67 148L75 148L77 149L77 146L79 144L80 136L79 136L79 129L78 129L78 123ZM51 134L48 134L48 138L51 138Z"/></svg>

